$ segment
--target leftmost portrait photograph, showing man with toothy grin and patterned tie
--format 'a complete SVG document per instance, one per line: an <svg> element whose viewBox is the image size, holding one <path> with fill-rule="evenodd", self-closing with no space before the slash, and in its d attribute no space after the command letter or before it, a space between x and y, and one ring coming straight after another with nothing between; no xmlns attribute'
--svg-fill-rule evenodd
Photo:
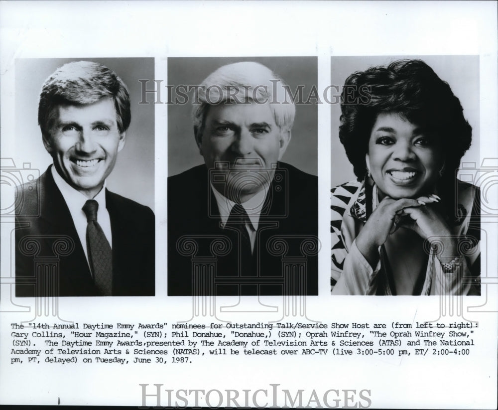
<svg viewBox="0 0 498 410"><path fill-rule="evenodd" d="M153 296L154 111L137 81L153 58L15 68L16 142L39 170L16 187L16 296Z"/></svg>

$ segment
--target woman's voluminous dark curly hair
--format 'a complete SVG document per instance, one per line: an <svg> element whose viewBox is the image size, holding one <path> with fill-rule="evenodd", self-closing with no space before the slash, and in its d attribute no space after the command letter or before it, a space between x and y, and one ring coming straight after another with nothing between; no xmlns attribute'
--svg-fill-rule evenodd
<svg viewBox="0 0 498 410"><path fill-rule="evenodd" d="M379 113L395 112L437 133L445 155L440 186L454 186L455 171L472 140L472 127L450 86L421 60L398 60L351 74L341 94L341 139L358 180L367 172L365 154Z"/></svg>

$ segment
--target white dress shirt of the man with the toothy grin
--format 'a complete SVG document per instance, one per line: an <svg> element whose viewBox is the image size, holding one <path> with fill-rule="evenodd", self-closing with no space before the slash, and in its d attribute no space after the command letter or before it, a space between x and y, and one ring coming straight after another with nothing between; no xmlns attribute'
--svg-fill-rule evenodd
<svg viewBox="0 0 498 410"><path fill-rule="evenodd" d="M69 208L69 212L71 214L71 218L73 219L74 227L76 228L76 232L78 233L78 238L80 238L81 246L83 247L83 251L85 252L85 257L88 262L88 250L87 250L87 216L85 212L83 212L83 205L89 199L81 192L74 189L71 185L69 185L55 170L55 167L52 165L51 167L52 176L55 181L55 185L61 191L62 197L64 201L66 201L66 205ZM95 201L99 203L99 210L97 211L97 222L101 226L104 231L104 235L106 235L107 240L109 241L109 245L111 248L113 247L113 237L111 234L111 218L109 217L109 212L106 208L106 183L104 182L104 186L100 190L100 192L93 198ZM90 266L90 265L89 265Z"/></svg>

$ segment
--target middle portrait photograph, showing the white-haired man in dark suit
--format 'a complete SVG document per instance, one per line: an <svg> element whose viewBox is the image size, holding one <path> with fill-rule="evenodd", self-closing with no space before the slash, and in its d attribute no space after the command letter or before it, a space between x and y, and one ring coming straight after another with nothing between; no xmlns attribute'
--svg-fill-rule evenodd
<svg viewBox="0 0 498 410"><path fill-rule="evenodd" d="M170 58L168 82L168 294L318 294L317 59Z"/></svg>

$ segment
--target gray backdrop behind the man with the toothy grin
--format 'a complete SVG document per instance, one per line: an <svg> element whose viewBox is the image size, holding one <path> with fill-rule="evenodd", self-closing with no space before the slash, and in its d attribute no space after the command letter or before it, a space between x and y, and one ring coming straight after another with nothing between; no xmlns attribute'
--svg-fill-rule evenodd
<svg viewBox="0 0 498 410"><path fill-rule="evenodd" d="M30 58L15 62L16 152L40 174L52 163L38 126L38 98L46 78L71 61L95 61L114 70L130 93L131 124L126 144L107 178L109 190L154 209L154 104L138 104L139 79L154 78L153 58Z"/></svg>

